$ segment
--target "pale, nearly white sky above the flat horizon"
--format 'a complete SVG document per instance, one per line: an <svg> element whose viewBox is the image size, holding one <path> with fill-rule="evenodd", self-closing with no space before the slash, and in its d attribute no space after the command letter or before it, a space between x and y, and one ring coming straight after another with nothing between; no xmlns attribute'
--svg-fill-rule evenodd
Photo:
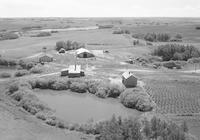
<svg viewBox="0 0 200 140"><path fill-rule="evenodd" d="M0 17L200 17L200 0L0 0Z"/></svg>

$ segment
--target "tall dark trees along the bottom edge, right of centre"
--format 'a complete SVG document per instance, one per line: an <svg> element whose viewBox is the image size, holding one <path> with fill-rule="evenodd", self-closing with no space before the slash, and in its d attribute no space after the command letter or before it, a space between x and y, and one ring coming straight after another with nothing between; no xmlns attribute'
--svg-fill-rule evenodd
<svg viewBox="0 0 200 140"><path fill-rule="evenodd" d="M185 122L181 126L159 117L124 119L112 117L97 125L96 140L191 140Z"/></svg>

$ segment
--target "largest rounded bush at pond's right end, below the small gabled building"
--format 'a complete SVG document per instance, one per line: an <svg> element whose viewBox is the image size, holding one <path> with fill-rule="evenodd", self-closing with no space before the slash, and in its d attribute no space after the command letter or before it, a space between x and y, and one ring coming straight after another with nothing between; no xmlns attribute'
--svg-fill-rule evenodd
<svg viewBox="0 0 200 140"><path fill-rule="evenodd" d="M153 109L150 97L148 97L147 93L139 87L126 89L120 95L120 101L124 106L139 111L151 111Z"/></svg>

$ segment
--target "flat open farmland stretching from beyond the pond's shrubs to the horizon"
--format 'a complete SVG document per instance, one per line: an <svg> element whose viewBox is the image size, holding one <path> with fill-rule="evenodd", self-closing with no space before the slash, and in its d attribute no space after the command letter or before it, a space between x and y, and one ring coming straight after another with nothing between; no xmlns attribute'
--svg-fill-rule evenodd
<svg viewBox="0 0 200 140"><path fill-rule="evenodd" d="M146 41L133 45L133 34L169 33L171 36L181 34L182 42L191 44L200 49L200 31L195 27L200 24L199 18L19 18L0 19L0 33L2 30L17 32L18 39L0 40L1 58L31 61L38 59L42 48L46 47L54 61L45 64L45 71L41 74L29 74L23 78L58 77L63 68L69 65L80 64L85 71L86 78L101 79L121 83L121 74L131 71L138 77L144 89L156 104L155 113L161 113L175 122L186 120L191 133L198 138L200 130L200 74L198 64L196 73L193 64L187 64L182 69L155 69L148 63L138 62L137 58L147 59L154 48L160 44L170 42L153 42L146 45ZM40 32L40 29L67 29L77 27L93 27L96 25L114 25L113 28L71 30L51 33L47 37L32 37L31 31ZM37 27L39 26L39 27ZM34 29L37 27L37 29ZM113 31L126 29L130 34L113 34ZM55 50L57 41L77 41L85 44L91 50L95 59L75 59L75 51L59 54ZM177 43L177 42L176 42ZM109 53L103 53L103 51ZM133 58L135 62L126 61ZM0 72L15 73L16 68L0 68ZM191 71L190 71L191 70ZM11 79L17 79L12 77ZM9 79L0 79L2 84ZM1 87L3 88L3 87ZM55 91L56 92L56 91ZM13 107L14 108L14 107ZM0 111L1 112L1 111ZM194 126L195 124L195 126Z"/></svg>

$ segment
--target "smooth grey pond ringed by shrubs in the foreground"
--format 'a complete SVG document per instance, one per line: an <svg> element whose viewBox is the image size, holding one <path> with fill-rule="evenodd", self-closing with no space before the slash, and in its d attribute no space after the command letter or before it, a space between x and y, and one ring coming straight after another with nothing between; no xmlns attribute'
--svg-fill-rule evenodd
<svg viewBox="0 0 200 140"><path fill-rule="evenodd" d="M55 110L57 117L71 123L110 119L113 114L135 118L141 112L124 107L119 99L101 99L92 94L70 91L36 90L39 99Z"/></svg>

